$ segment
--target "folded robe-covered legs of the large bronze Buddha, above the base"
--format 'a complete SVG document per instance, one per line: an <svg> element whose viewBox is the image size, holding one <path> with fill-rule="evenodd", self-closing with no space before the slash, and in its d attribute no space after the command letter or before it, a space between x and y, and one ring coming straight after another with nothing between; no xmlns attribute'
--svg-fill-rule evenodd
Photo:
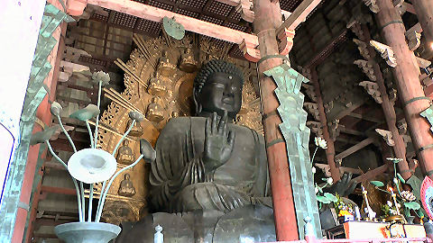
<svg viewBox="0 0 433 243"><path fill-rule="evenodd" d="M232 211L246 204L252 199L244 193L213 182L190 184L177 193L170 201L170 211L217 210Z"/></svg>

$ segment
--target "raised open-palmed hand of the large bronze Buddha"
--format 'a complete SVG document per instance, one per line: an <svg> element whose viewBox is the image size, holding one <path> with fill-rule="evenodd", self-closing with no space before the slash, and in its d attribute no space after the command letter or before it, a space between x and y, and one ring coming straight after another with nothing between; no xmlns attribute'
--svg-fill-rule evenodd
<svg viewBox="0 0 433 243"><path fill-rule="evenodd" d="M224 112L224 116L219 122L217 121L217 112L212 114L212 118L206 119L205 148L203 151L206 173L224 165L230 158L235 143L235 132L227 131L227 112Z"/></svg>

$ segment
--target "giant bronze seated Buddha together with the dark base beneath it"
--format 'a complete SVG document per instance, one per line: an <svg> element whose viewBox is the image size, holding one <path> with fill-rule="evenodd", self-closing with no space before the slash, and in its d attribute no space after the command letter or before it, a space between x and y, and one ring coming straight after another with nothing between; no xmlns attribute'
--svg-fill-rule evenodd
<svg viewBox="0 0 433 243"><path fill-rule="evenodd" d="M214 59L201 67L194 80L196 116L171 118L156 142L149 175L155 213L124 227L116 242L142 242L134 240L146 238L145 230L153 233L153 224L164 228L180 219L192 238L164 234L164 242L275 240L263 136L233 123L243 84L242 71L231 63ZM188 231L168 227L169 234Z"/></svg>

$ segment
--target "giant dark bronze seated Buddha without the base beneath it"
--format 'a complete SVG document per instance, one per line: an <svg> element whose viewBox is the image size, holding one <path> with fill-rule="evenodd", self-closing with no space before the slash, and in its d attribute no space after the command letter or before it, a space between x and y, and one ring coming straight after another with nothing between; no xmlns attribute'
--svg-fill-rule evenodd
<svg viewBox="0 0 433 243"><path fill-rule="evenodd" d="M232 211L267 195L263 137L234 124L241 109L242 72L211 60L194 80L195 117L171 119L156 142L153 210Z"/></svg>

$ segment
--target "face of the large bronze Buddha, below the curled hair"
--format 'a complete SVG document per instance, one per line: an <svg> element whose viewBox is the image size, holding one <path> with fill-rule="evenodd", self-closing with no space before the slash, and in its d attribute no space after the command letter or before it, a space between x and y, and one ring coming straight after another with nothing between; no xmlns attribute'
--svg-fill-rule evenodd
<svg viewBox="0 0 433 243"><path fill-rule="evenodd" d="M207 78L196 99L202 112L217 112L222 116L227 111L228 117L234 118L241 109L242 81L237 76L215 73Z"/></svg>

